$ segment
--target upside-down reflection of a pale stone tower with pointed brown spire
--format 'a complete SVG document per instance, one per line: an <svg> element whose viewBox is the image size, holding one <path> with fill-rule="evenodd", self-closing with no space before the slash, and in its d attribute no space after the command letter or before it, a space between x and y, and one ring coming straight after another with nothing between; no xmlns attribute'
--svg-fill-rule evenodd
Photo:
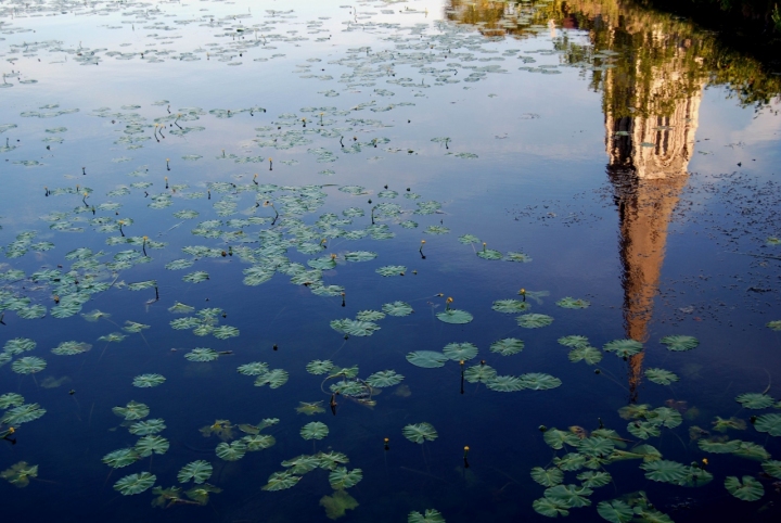
<svg viewBox="0 0 781 523"><path fill-rule="evenodd" d="M650 92L638 98L657 101L660 95L664 97L663 91L677 79L675 67L673 71L669 68L673 64L653 67L653 79L644 86ZM626 95L626 92L613 91L613 78L614 74L609 72L604 95L622 99L618 94ZM635 78L632 87L640 84L639 79ZM615 189L619 216L624 327L626 336L638 342L648 340L648 326L664 262L667 227L678 203L678 194L687 182L687 167L694 148L702 88L689 92L673 101L671 111L666 116L649 114L653 107L645 107L646 111L636 107L637 113L642 115L619 117L612 113L611 103L605 104L610 157L607 174ZM642 360L642 353L629 359L631 401L637 399Z"/></svg>

